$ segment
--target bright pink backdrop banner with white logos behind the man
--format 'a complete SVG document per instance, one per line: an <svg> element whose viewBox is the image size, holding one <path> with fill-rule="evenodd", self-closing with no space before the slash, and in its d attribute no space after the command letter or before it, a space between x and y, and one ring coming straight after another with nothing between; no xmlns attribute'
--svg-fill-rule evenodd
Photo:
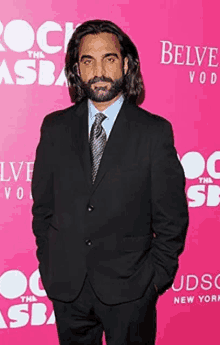
<svg viewBox="0 0 220 345"><path fill-rule="evenodd" d="M71 105L64 59L89 19L119 25L139 51L141 105L171 121L190 226L157 345L219 344L220 42L218 0L39 0L0 5L0 343L58 344L31 229L30 184L44 116ZM147 325L146 325L147 327Z"/></svg>

